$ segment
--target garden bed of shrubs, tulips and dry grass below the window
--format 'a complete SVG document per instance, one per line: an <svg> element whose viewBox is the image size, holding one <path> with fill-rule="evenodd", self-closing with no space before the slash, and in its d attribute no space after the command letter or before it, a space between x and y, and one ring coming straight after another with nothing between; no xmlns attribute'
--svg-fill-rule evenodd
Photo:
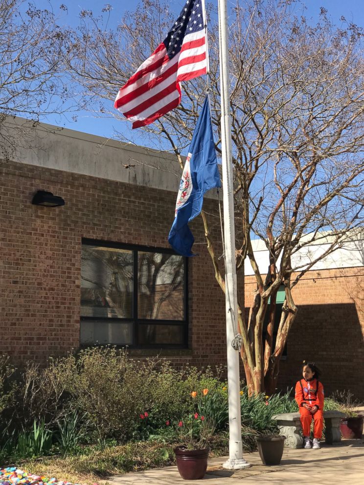
<svg viewBox="0 0 364 485"><path fill-rule="evenodd" d="M63 485L165 466L174 463L181 423L191 416L213 423L210 456L226 455L223 371L176 370L164 359L140 363L114 348L50 359L46 368L29 362L23 372L0 356L0 466ZM277 431L272 416L297 406L290 390L249 397L243 383L241 389L243 449L252 451L255 436ZM325 409L342 404L325 399Z"/></svg>

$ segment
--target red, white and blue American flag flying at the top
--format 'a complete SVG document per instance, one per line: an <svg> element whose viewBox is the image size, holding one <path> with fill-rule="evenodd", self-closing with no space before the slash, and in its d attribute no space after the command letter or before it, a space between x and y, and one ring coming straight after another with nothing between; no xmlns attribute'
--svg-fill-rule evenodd
<svg viewBox="0 0 364 485"><path fill-rule="evenodd" d="M186 0L164 41L117 93L114 107L133 128L149 125L181 102L180 81L207 72L204 0Z"/></svg>

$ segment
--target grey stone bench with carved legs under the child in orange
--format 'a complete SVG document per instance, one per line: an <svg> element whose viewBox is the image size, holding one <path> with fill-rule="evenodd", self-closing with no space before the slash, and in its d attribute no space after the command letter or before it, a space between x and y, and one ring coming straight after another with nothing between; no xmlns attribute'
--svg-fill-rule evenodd
<svg viewBox="0 0 364 485"><path fill-rule="evenodd" d="M341 441L340 419L344 417L344 413L340 411L323 412L326 443L332 444ZM299 413L276 414L272 416L272 419L277 422L279 434L286 437L284 444L287 448L302 448L303 436Z"/></svg>

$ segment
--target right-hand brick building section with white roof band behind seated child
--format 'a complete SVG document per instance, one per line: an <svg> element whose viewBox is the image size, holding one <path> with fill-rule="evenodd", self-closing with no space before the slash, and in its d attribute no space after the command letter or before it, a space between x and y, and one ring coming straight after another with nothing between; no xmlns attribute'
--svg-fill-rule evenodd
<svg viewBox="0 0 364 485"><path fill-rule="evenodd" d="M322 246L311 246L309 251ZM262 242L255 242L254 252L258 265L268 267ZM278 385L291 387L305 359L318 364L327 395L346 389L363 399L364 241L347 243L314 268L292 291L298 312L280 362ZM249 263L245 273L245 306L249 307L256 288ZM277 309L283 295L284 291L278 292Z"/></svg>

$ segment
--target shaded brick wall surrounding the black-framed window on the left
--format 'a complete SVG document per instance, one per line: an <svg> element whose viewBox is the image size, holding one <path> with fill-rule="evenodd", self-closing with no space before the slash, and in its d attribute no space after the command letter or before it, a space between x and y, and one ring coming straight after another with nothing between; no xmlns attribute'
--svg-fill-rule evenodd
<svg viewBox="0 0 364 485"><path fill-rule="evenodd" d="M16 163L2 164L0 174L0 352L16 364L45 362L79 346L82 238L170 247L176 193ZM32 205L38 189L66 205ZM205 200L209 211L212 205ZM200 254L189 260L192 352L173 360L214 365L225 362L225 298L201 218L191 228ZM215 239L219 230L216 224Z"/></svg>

